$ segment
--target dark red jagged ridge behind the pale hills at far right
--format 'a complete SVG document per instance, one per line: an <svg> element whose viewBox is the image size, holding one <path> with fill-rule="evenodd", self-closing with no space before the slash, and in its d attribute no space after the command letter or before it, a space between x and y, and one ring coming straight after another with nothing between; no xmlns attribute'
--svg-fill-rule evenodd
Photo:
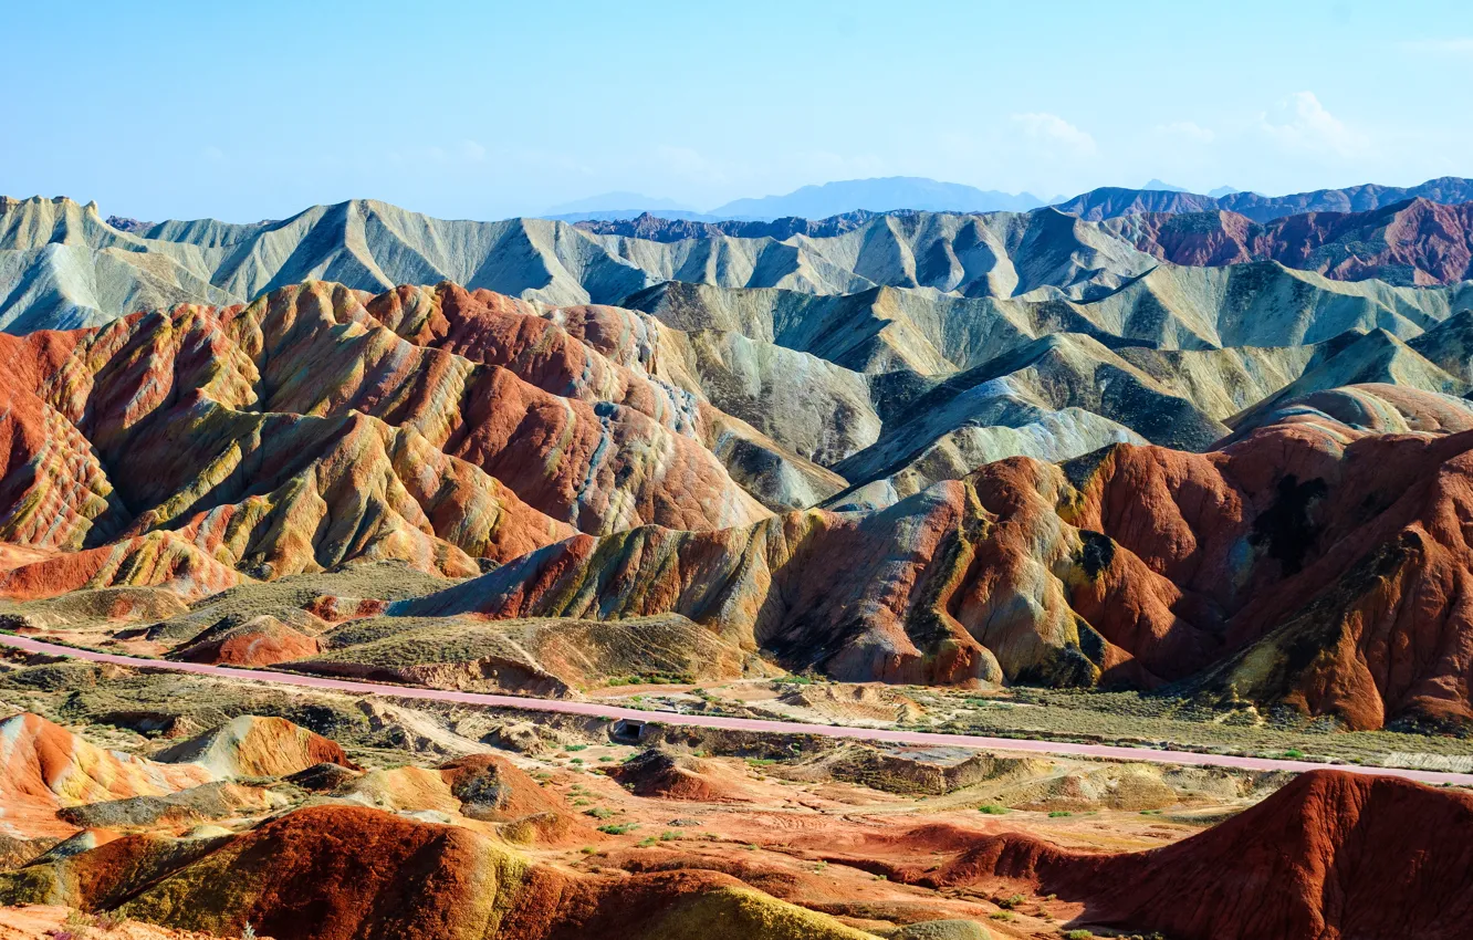
<svg viewBox="0 0 1473 940"><path fill-rule="evenodd" d="M1473 277L1473 203L1427 199L1368 212L1305 212L1254 222L1236 212L1150 212L1105 222L1162 261L1279 261L1337 280L1452 284Z"/></svg>

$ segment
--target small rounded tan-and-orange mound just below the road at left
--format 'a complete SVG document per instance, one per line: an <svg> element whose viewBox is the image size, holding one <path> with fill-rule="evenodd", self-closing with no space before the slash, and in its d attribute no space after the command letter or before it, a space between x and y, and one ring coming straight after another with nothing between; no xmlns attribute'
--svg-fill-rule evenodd
<svg viewBox="0 0 1473 940"><path fill-rule="evenodd" d="M284 718L242 715L155 756L175 765L208 768L217 778L286 776L318 763L355 765L336 741Z"/></svg>

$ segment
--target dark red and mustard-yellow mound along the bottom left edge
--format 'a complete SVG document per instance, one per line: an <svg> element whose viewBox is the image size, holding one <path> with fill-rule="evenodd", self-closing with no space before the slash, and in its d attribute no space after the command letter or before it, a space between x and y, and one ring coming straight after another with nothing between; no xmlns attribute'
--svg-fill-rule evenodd
<svg viewBox="0 0 1473 940"><path fill-rule="evenodd" d="M37 897L217 936L249 922L281 940L869 937L728 875L574 875L468 828L349 806L299 809L240 835L127 835L0 875L0 900Z"/></svg>

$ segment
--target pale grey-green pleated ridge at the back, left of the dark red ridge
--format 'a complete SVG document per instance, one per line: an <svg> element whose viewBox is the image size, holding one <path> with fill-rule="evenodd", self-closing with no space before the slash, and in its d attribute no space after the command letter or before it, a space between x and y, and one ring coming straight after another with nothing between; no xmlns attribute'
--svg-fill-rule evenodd
<svg viewBox="0 0 1473 940"><path fill-rule="evenodd" d="M820 231L828 231L820 228ZM181 302L246 302L305 280L374 293L451 280L555 305L616 304L654 283L838 295L876 284L968 296L1106 290L1155 261L1058 212L881 215L848 231L655 242L549 220L435 220L373 200L234 225L109 225L94 203L0 197L0 329L96 326Z"/></svg>

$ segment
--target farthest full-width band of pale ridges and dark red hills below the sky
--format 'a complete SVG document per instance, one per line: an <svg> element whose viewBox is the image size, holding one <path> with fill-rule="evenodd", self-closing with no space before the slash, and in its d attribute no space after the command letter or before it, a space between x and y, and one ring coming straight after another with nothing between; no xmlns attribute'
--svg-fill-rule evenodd
<svg viewBox="0 0 1473 940"><path fill-rule="evenodd" d="M1439 181L1417 189L1446 194L1460 183L1466 186ZM1361 187L1305 202L1376 202L1404 192ZM239 304L306 280L373 292L451 280L576 305L620 304L664 281L806 295L899 287L1018 298L1043 289L1086 301L1119 290L1162 262L1217 268L1268 261L1332 280L1408 287L1473 278L1467 206L1421 197L1368 212L1258 222L1217 208L1230 200L1261 208L1252 200L1264 197L1252 193L1221 200L1117 193L1119 199L1091 203L1096 215L1119 209L1102 221L1043 208L848 212L770 222L642 215L579 225L448 221L373 200L312 206L270 222L105 221L94 203L0 197L0 330L91 326L177 304ZM1150 211L1161 205L1177 211Z"/></svg>

